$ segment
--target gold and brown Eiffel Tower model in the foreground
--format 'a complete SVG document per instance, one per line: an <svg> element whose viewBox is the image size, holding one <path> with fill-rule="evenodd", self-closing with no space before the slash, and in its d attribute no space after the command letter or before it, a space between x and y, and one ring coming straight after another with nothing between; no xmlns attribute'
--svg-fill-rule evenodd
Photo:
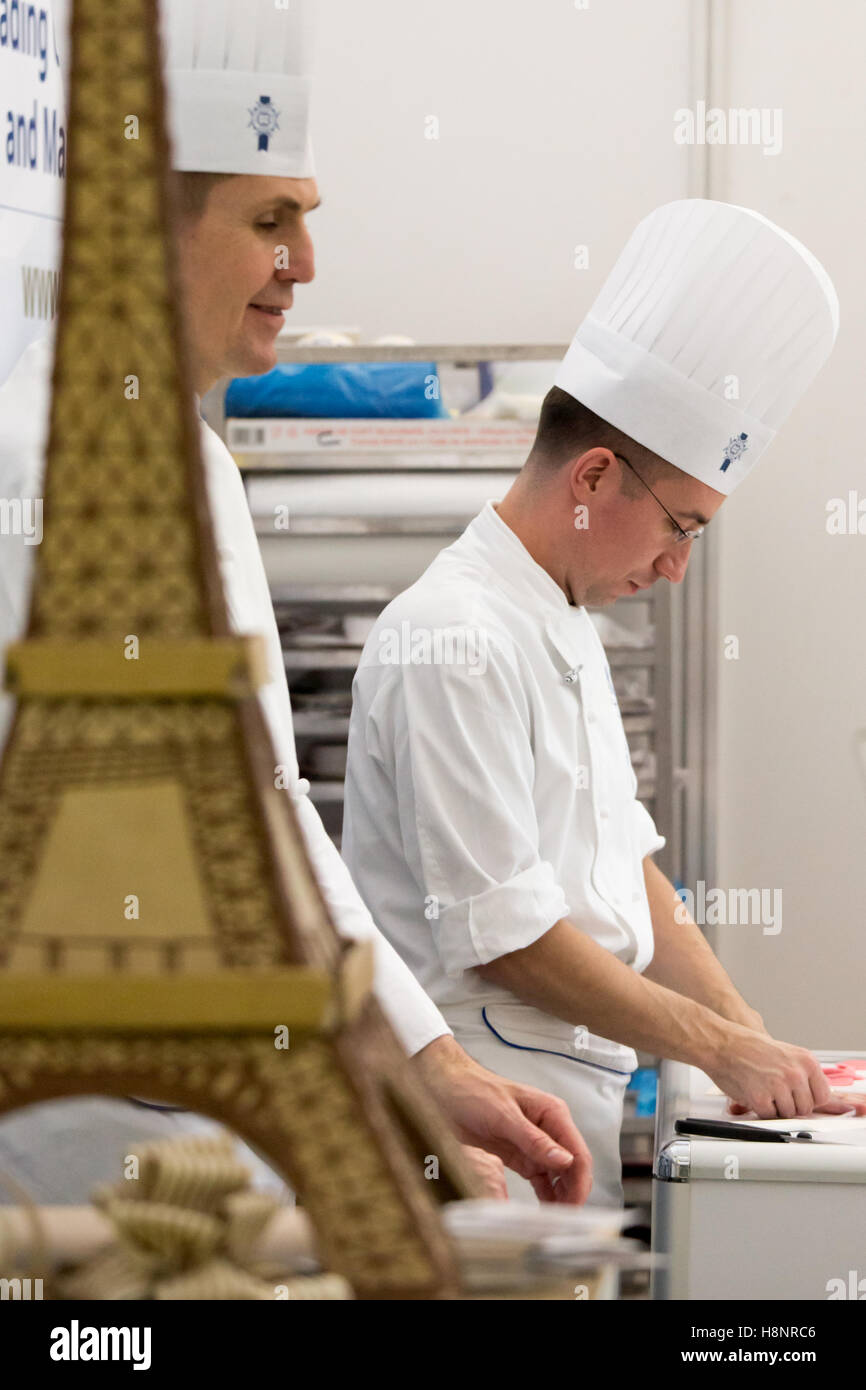
<svg viewBox="0 0 866 1390"><path fill-rule="evenodd" d="M43 542L7 653L0 1112L97 1093L211 1115L285 1176L357 1297L457 1297L436 1208L473 1180L371 994L371 945L329 919L275 785L263 639L228 623L157 33L156 0L75 0Z"/></svg>

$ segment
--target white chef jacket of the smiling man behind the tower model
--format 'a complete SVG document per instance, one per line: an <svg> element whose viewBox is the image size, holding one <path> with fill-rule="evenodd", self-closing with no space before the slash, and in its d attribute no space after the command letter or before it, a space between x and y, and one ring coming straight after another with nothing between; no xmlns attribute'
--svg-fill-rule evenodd
<svg viewBox="0 0 866 1390"><path fill-rule="evenodd" d="M53 335L49 335L31 343L0 388L0 498L42 496L51 359ZM236 632L265 637L271 678L260 689L259 699L277 762L285 769L284 780L307 852L338 930L353 940L374 940L375 992L411 1055L450 1029L377 930L307 796L309 783L299 778L279 632L243 481L231 453L204 423L202 453L229 621ZM0 534L0 653L24 635L35 553L36 546L28 545L24 537ZM0 695L0 745L11 713L13 699Z"/></svg>

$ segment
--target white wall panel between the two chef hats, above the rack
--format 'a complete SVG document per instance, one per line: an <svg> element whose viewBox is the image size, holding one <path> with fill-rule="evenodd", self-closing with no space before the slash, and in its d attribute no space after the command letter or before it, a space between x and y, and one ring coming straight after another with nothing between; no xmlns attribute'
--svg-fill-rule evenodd
<svg viewBox="0 0 866 1390"><path fill-rule="evenodd" d="M418 341L567 342L634 222L687 192L670 131L688 10L320 0L324 206L299 320ZM424 136L431 114L438 140ZM574 270L577 243L589 270Z"/></svg>

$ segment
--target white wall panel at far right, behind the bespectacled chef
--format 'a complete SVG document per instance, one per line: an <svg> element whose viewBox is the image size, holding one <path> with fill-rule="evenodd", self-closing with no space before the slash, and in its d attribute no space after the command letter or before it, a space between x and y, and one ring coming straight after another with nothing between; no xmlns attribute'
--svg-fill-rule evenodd
<svg viewBox="0 0 866 1390"><path fill-rule="evenodd" d="M719 104L781 107L778 157L727 149L713 196L756 207L823 260L841 300L835 352L760 467L724 507L719 883L783 890L783 930L719 931L723 960L780 1036L866 1040L866 535L826 503L858 489L866 328L866 11L734 0Z"/></svg>

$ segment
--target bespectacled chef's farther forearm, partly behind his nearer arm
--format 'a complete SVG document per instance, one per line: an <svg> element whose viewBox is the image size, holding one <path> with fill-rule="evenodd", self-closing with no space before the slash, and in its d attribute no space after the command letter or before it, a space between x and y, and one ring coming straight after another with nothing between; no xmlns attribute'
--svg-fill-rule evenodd
<svg viewBox="0 0 866 1390"><path fill-rule="evenodd" d="M644 878L655 937L655 954L645 977L688 995L723 1019L762 1027L760 1015L737 991L673 883L651 858L644 860Z"/></svg>

